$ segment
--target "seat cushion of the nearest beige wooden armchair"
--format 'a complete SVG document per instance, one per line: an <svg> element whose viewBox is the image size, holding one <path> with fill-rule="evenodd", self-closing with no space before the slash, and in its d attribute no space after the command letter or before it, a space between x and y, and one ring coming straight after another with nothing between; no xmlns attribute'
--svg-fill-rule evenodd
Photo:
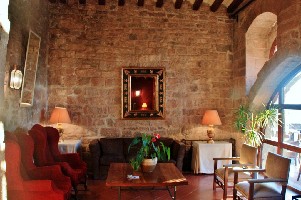
<svg viewBox="0 0 301 200"><path fill-rule="evenodd" d="M277 189L277 183L255 183L254 199L278 200L282 199L281 191ZM247 181L235 184L235 189L249 199L250 184Z"/></svg>

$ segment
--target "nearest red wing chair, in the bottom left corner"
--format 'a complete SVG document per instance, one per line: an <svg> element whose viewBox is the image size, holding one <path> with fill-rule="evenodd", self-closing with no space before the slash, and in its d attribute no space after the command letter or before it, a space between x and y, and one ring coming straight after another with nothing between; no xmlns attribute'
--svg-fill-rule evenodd
<svg viewBox="0 0 301 200"><path fill-rule="evenodd" d="M30 180L26 173L21 176L23 166L19 145L11 139L5 139L4 142L8 199L66 200L65 192L60 190L52 180L39 179L39 176L44 176L43 173L36 174L36 180Z"/></svg>

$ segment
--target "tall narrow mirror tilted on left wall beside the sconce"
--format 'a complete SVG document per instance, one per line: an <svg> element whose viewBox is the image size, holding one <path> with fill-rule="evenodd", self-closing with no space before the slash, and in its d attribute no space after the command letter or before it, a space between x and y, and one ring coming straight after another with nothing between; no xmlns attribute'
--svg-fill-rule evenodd
<svg viewBox="0 0 301 200"><path fill-rule="evenodd" d="M20 107L33 106L41 37L29 30Z"/></svg>

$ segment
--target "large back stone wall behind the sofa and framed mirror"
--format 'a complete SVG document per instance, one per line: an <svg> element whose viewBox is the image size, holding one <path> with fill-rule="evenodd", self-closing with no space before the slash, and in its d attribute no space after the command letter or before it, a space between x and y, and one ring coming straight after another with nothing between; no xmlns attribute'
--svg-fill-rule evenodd
<svg viewBox="0 0 301 200"><path fill-rule="evenodd" d="M205 110L219 112L215 138L230 138L233 44L225 7L69 0L50 4L49 33L47 119L54 106L67 107L72 124L63 124L65 138L82 140L84 161L99 137L158 132L207 139ZM121 120L122 66L166 67L165 120Z"/></svg>

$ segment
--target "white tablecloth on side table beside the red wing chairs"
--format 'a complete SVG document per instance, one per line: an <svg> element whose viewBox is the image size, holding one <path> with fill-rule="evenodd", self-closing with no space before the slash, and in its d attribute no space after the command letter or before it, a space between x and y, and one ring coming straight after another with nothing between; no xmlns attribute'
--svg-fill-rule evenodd
<svg viewBox="0 0 301 200"><path fill-rule="evenodd" d="M64 140L58 143L58 149L61 154L79 153L82 160L82 141L81 140Z"/></svg>

